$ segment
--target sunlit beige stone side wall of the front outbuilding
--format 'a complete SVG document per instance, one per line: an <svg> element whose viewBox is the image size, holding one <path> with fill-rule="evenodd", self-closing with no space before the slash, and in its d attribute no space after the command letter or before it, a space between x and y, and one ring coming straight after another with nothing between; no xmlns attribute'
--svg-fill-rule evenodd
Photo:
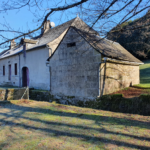
<svg viewBox="0 0 150 150"><path fill-rule="evenodd" d="M139 84L139 65L114 62L101 64L102 94L109 94L134 84Z"/></svg>

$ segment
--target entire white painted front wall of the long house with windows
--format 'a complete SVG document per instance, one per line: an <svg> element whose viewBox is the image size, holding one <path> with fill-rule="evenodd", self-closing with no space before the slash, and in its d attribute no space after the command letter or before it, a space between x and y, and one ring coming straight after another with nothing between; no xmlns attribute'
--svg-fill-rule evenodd
<svg viewBox="0 0 150 150"><path fill-rule="evenodd" d="M20 55L20 69L19 69L19 55ZM48 48L39 48L35 50L27 50L26 57L23 53L14 55L4 59L0 59L0 85L12 84L19 86L19 70L20 70L20 84L22 86L22 68L29 69L29 87L35 89L50 89L50 72L49 67L46 66L46 60L49 57ZM15 75L14 64L17 63L17 75ZM8 80L8 66L11 64L11 81ZM5 76L3 76L3 65L5 65Z"/></svg>

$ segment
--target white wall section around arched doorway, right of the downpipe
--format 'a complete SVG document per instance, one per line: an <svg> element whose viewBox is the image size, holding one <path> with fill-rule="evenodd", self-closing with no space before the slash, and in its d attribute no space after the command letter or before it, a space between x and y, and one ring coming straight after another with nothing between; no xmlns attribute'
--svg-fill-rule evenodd
<svg viewBox="0 0 150 150"><path fill-rule="evenodd" d="M26 58L23 54L20 56L20 67L28 67L29 69L29 87L35 89L50 89L50 72L46 66L46 60L49 57L48 48L37 48L35 50L27 50ZM22 85L22 72L20 75Z"/></svg>

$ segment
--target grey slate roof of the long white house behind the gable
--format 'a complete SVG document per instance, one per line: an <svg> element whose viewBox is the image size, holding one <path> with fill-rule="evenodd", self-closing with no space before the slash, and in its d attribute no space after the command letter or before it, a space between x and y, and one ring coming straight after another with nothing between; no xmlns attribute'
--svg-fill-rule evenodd
<svg viewBox="0 0 150 150"><path fill-rule="evenodd" d="M56 27L50 29L49 31L47 31L43 35L41 34L41 35L33 38L32 40L36 40L38 42L36 42L36 44L33 44L33 46L30 46L30 48L27 49L27 51L41 47L41 46L44 46L44 45L46 46L47 43L58 38L66 29L69 29L69 27L71 27L71 26L75 26L77 28L84 29L85 31L89 30L89 26L86 23L84 23L80 18L78 18L78 17L74 18L68 22L65 22L59 26L56 26ZM98 35L98 33L96 31L94 31L93 29L91 29L89 31L90 31L90 33ZM15 48L15 51L14 51L14 49L11 49L11 50L7 50L7 52L2 53L0 55L0 59L5 58L5 57L9 57L11 55L18 54L19 52L22 52L23 47L22 47L22 50L20 49L20 46L18 46L18 47L19 47L18 50Z"/></svg>

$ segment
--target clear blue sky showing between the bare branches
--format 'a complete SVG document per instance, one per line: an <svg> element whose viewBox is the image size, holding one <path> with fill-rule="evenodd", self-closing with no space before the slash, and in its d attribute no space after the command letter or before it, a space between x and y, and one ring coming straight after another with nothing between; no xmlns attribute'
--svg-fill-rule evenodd
<svg viewBox="0 0 150 150"><path fill-rule="evenodd" d="M57 2L59 2L59 6L63 6L64 5L64 1L61 0L57 0ZM146 1L146 0L145 0ZM69 2L69 1L68 1ZM136 2L136 1L135 1ZM32 13L29 11L29 7L26 6L20 10L10 10L7 13L0 13L0 20L1 20L1 24L7 24L10 26L10 28L14 29L14 30L20 30L20 31L27 31L28 29L32 30L37 28L38 26L40 26L41 21L37 21L35 15L39 14L39 15L43 15L43 12L45 12L48 8L52 8L52 7L56 7L56 1L55 0L51 0L49 4L47 3L43 3L43 7L40 7L41 10L37 9L36 7L31 8ZM1 6L1 5L0 5ZM88 4L84 4L83 7L87 7ZM122 6L120 4L120 6ZM89 8L91 6L88 6ZM113 6L112 9L116 9L117 5ZM46 12L48 12L49 10L47 10ZM138 16L134 17L132 20L136 19L137 17L141 17L145 14L146 12L143 12L141 14L139 14ZM80 13L79 13L80 15ZM114 22L118 22L119 19L121 18L121 16L123 16L123 12L114 16L113 21ZM73 18L75 18L77 16L77 9L73 8L73 9L69 9L65 12L56 12L54 14L52 14L49 17L49 20L54 22L55 25L59 25L62 24L68 20L71 20ZM82 18L82 15L80 15L80 17ZM83 15L84 17L84 15ZM109 20L108 20L109 21ZM89 22L90 23L90 22ZM103 20L100 20L96 26L95 29L103 24ZM90 25L90 24L89 24ZM112 22L110 23L110 27L109 27L109 22L105 25L105 28L107 28L108 30L111 29L113 26L115 26L115 23L112 25ZM0 29L4 29L3 25L0 25ZM4 33L5 36L7 36L8 38L12 38L14 36L17 36L16 33ZM2 42L2 41L0 41ZM2 51L3 49L0 49L0 51Z"/></svg>

